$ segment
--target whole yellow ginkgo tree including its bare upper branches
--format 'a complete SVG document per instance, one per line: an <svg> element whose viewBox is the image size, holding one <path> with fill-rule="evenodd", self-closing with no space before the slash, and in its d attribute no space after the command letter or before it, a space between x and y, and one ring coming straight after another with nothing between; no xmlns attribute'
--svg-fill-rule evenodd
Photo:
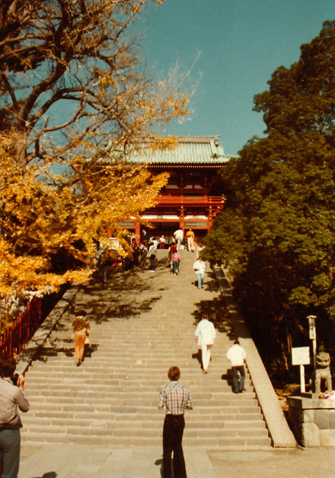
<svg viewBox="0 0 335 478"><path fill-rule="evenodd" d="M154 0L0 2L0 296L85 280L96 243L154 204L167 175L135 154L173 147L190 114L172 71L142 64L134 21ZM124 241L125 244L125 241ZM20 299L20 300L21 300Z"/></svg>

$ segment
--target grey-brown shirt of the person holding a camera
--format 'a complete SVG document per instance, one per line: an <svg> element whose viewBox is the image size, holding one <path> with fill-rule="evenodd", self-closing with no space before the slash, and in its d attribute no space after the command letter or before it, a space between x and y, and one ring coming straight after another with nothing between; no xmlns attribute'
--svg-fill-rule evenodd
<svg viewBox="0 0 335 478"><path fill-rule="evenodd" d="M0 378L0 430L21 428L22 422L17 408L29 410L29 402L19 387Z"/></svg>

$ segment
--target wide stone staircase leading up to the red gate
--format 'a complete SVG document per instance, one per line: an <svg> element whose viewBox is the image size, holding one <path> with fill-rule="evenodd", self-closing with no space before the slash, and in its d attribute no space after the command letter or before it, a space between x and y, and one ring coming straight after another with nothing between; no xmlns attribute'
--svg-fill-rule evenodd
<svg viewBox="0 0 335 478"><path fill-rule="evenodd" d="M193 260L182 251L179 276L168 272L161 257L156 273L115 273L106 287L96 282L79 290L26 374L31 410L21 413L23 444L160 444L159 391L168 383L168 368L177 365L194 403L185 416L184 445L270 447L250 378L238 395L227 380L225 354L232 342L222 317L214 321L221 332L202 375L195 319L203 307L221 315L223 306L214 280L207 277L204 290L192 283ZM83 307L91 320L91 346L76 367L71 322L74 310Z"/></svg>

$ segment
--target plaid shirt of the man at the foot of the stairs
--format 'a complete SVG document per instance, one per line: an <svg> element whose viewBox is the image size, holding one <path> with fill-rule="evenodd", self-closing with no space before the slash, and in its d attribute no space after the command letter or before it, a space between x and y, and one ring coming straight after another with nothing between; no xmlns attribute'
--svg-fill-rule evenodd
<svg viewBox="0 0 335 478"><path fill-rule="evenodd" d="M193 403L190 390L178 383L171 381L162 388L159 395L158 408L167 407L167 415L183 415L184 410L192 410Z"/></svg>

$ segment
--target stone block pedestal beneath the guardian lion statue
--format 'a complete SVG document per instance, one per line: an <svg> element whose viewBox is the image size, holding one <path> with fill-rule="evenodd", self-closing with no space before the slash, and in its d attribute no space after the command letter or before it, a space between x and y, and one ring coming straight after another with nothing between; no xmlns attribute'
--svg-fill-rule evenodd
<svg viewBox="0 0 335 478"><path fill-rule="evenodd" d="M335 400L288 397L289 420L305 447L335 446Z"/></svg>

